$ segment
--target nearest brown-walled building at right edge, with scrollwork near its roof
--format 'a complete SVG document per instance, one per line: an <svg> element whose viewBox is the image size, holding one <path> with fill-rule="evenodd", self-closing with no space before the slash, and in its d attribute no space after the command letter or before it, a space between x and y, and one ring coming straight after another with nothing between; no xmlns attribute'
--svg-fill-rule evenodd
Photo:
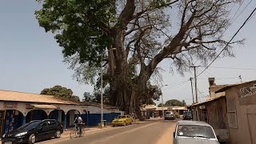
<svg viewBox="0 0 256 144"><path fill-rule="evenodd" d="M230 143L256 143L256 81L225 86Z"/></svg>

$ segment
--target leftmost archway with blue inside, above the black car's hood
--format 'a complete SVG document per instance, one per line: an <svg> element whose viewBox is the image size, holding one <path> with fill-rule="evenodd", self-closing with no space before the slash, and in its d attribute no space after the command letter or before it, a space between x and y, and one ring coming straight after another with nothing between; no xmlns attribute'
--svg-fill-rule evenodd
<svg viewBox="0 0 256 144"><path fill-rule="evenodd" d="M1 125L4 127L3 132L7 133L15 130L23 124L23 114L18 110L6 110L4 122Z"/></svg>

